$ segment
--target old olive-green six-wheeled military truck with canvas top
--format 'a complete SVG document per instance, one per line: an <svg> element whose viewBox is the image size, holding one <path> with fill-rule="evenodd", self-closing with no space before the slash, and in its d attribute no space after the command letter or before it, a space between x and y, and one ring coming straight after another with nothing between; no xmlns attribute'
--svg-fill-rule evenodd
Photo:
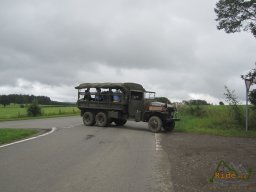
<svg viewBox="0 0 256 192"><path fill-rule="evenodd" d="M124 125L128 119L148 122L152 132L175 127L176 108L157 102L155 92L146 91L137 83L82 83L77 105L85 126Z"/></svg>

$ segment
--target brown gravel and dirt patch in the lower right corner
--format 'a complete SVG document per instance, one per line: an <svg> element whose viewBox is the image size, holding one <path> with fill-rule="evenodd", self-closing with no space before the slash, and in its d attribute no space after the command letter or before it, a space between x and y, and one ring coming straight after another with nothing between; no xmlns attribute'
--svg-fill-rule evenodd
<svg viewBox="0 0 256 192"><path fill-rule="evenodd" d="M255 138L173 132L161 143L174 191L256 191Z"/></svg>

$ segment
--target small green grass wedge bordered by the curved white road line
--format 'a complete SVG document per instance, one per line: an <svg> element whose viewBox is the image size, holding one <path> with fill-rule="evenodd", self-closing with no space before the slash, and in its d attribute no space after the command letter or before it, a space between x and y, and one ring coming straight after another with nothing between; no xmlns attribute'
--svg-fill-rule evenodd
<svg viewBox="0 0 256 192"><path fill-rule="evenodd" d="M36 129L0 129L0 145L31 137L39 133Z"/></svg>

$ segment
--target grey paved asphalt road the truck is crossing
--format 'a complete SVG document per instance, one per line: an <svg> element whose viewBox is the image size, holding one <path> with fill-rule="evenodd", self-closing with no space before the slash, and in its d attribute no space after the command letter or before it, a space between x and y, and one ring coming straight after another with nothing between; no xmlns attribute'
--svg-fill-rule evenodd
<svg viewBox="0 0 256 192"><path fill-rule="evenodd" d="M0 191L173 191L161 136L147 124L84 127L80 117L65 117L0 127L57 127L45 137L0 148Z"/></svg>

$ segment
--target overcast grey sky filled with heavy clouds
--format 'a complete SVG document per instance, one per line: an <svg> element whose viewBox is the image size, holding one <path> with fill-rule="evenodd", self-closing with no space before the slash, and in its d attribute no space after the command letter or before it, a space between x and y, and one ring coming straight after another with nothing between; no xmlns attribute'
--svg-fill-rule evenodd
<svg viewBox="0 0 256 192"><path fill-rule="evenodd" d="M171 101L240 100L256 39L216 28L216 0L1 0L0 94L75 101L84 82L136 82ZM253 88L253 87L252 87Z"/></svg>

